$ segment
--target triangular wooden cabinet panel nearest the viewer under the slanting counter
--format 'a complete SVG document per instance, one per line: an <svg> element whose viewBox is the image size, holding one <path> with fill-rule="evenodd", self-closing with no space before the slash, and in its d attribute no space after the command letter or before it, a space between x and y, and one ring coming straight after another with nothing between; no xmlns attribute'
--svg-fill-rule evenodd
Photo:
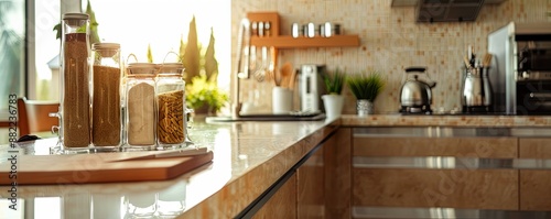
<svg viewBox="0 0 551 219"><path fill-rule="evenodd" d="M296 218L296 174L293 174L252 218Z"/></svg>

